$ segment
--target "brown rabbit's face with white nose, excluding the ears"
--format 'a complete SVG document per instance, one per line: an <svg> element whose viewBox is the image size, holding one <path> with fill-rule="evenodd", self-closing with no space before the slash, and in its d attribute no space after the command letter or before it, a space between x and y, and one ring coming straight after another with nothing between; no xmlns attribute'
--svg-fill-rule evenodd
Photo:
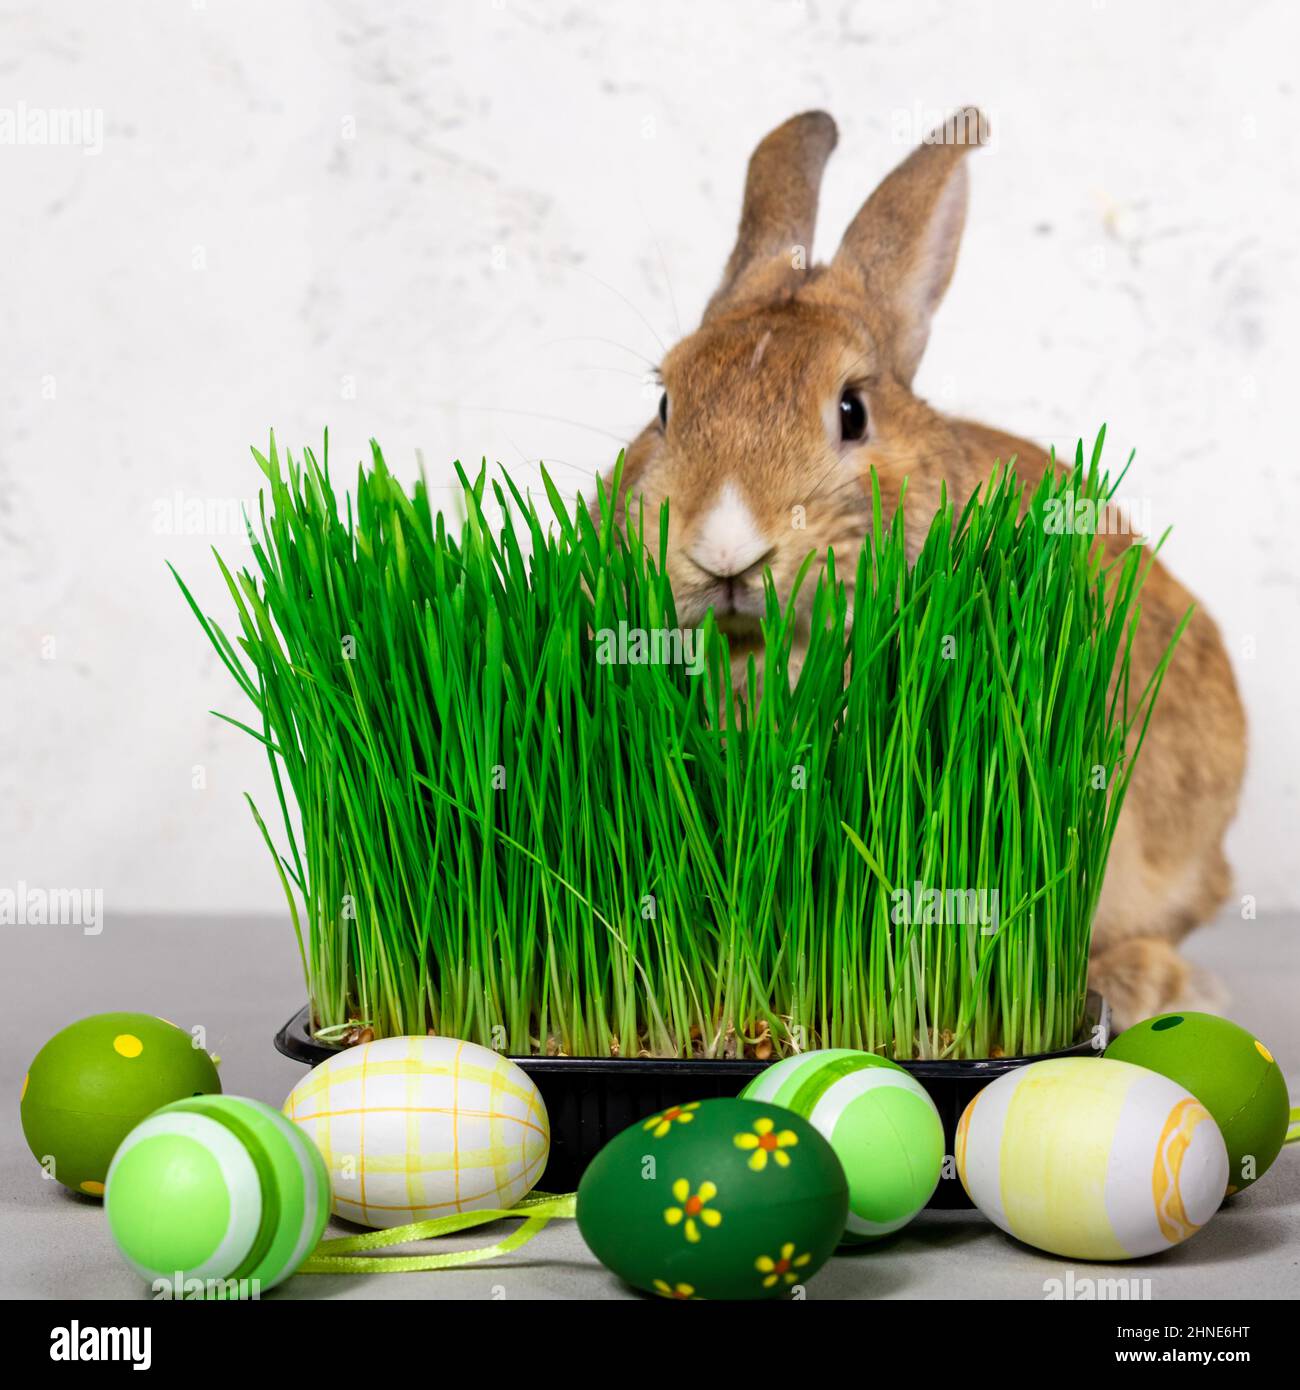
<svg viewBox="0 0 1300 1390"><path fill-rule="evenodd" d="M756 635L766 571L784 600L809 552L856 552L870 521L862 480L888 452L880 371L865 324L797 296L710 322L669 353L659 418L628 467L647 517L669 502L683 623L712 607L726 631Z"/></svg>

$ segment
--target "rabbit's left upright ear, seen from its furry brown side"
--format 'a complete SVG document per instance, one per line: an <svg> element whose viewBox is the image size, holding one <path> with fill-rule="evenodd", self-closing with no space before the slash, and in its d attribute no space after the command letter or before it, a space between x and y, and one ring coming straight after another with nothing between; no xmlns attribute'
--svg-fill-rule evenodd
<svg viewBox="0 0 1300 1390"><path fill-rule="evenodd" d="M836 122L824 111L793 115L749 157L736 249L705 310L705 321L794 284L812 264L822 170L836 147Z"/></svg>

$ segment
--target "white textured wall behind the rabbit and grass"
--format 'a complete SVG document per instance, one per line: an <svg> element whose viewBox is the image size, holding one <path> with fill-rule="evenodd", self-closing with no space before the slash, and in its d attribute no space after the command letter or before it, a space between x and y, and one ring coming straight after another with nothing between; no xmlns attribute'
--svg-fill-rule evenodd
<svg viewBox="0 0 1300 1390"><path fill-rule="evenodd" d="M241 799L267 774L163 563L225 612L207 546L243 548L160 503L249 496L273 425L583 486L769 126L840 121L826 253L900 135L977 101L918 389L1137 448L1125 495L1175 524L1250 706L1239 888L1300 903L1297 29L1286 0L4 4L0 111L104 128L0 145L0 885L281 906Z"/></svg>

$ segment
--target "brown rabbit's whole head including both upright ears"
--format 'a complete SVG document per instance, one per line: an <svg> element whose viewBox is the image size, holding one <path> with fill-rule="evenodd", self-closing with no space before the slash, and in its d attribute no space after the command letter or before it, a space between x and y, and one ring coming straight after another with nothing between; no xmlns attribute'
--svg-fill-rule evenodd
<svg viewBox="0 0 1300 1390"><path fill-rule="evenodd" d="M961 113L868 199L834 260L805 268L830 117L773 131L749 161L736 249L701 327L660 366L663 399L627 452L624 505L669 503L679 620L708 609L756 639L770 573L784 602L809 556L852 563L870 527L870 470L891 510L925 460L937 480L947 421L911 392L965 218ZM916 484L909 484L916 489ZM927 491L922 484L922 491ZM653 534L653 531L651 531ZM816 578L816 570L809 575ZM799 591L811 603L813 582Z"/></svg>

